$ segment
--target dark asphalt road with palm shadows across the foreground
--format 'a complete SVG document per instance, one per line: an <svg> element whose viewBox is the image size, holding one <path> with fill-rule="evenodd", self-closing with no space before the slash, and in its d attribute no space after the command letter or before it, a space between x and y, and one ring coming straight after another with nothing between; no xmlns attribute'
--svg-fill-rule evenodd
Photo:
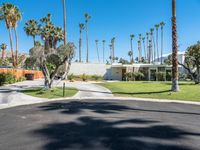
<svg viewBox="0 0 200 150"><path fill-rule="evenodd" d="M200 150L200 108L117 100L0 110L1 150Z"/></svg>

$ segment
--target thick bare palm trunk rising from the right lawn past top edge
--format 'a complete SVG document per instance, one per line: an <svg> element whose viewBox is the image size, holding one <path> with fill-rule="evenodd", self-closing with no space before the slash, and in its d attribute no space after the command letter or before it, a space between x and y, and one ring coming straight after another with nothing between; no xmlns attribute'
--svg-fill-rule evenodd
<svg viewBox="0 0 200 150"><path fill-rule="evenodd" d="M172 0L172 91L178 92L178 42L176 25L176 0Z"/></svg>

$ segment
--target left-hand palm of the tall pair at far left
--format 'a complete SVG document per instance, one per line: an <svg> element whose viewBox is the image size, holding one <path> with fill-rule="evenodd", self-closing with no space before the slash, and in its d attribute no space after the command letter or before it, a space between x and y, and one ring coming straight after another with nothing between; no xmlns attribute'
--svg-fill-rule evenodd
<svg viewBox="0 0 200 150"><path fill-rule="evenodd" d="M14 50L13 50L13 38L12 38L12 27L13 27L13 18L15 16L15 6L10 3L4 3L1 7L1 20L5 20L6 27L9 31L9 38L10 38L10 49L11 49L11 55L12 55L12 64L15 67L15 56L14 56Z"/></svg>

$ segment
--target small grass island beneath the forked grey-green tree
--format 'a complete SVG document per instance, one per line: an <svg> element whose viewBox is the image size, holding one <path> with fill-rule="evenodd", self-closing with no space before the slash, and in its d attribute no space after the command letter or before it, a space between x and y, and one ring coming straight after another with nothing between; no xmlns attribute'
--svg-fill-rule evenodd
<svg viewBox="0 0 200 150"><path fill-rule="evenodd" d="M63 97L63 89L62 88L54 88L52 90L47 90L43 88L32 88L22 91L24 94L39 97L39 98L62 98ZM74 96L78 90L74 88L66 88L65 89L65 97L72 97Z"/></svg>

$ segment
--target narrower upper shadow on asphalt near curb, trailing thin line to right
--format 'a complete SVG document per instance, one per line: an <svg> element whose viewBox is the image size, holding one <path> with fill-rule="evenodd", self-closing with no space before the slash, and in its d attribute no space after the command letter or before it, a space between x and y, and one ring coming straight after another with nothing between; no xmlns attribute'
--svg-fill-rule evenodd
<svg viewBox="0 0 200 150"><path fill-rule="evenodd" d="M157 103L161 104L163 106L159 106L161 108L158 109L146 109L143 107L130 107L127 105L121 105L117 103L112 102L95 102L96 100L91 100L94 102L86 102L86 101L70 101L70 102L53 102L49 103L47 105L42 105L39 107L42 111L60 111L60 113L64 114L81 114L85 110L90 110L95 113L100 114L108 114L108 113L120 113L120 112L126 112L126 111L134 111L134 112L146 112L146 113L163 113L163 114L181 114L181 115L197 115L199 116L200 113L191 110L188 111L174 111L170 110L168 108L165 108L164 105L167 105L165 103ZM119 101L113 99L113 101ZM139 101L137 101L139 102ZM141 103L149 103L149 102L141 102ZM155 103L156 102L152 102ZM176 103L173 103L175 105ZM180 106L181 107L181 106Z"/></svg>

